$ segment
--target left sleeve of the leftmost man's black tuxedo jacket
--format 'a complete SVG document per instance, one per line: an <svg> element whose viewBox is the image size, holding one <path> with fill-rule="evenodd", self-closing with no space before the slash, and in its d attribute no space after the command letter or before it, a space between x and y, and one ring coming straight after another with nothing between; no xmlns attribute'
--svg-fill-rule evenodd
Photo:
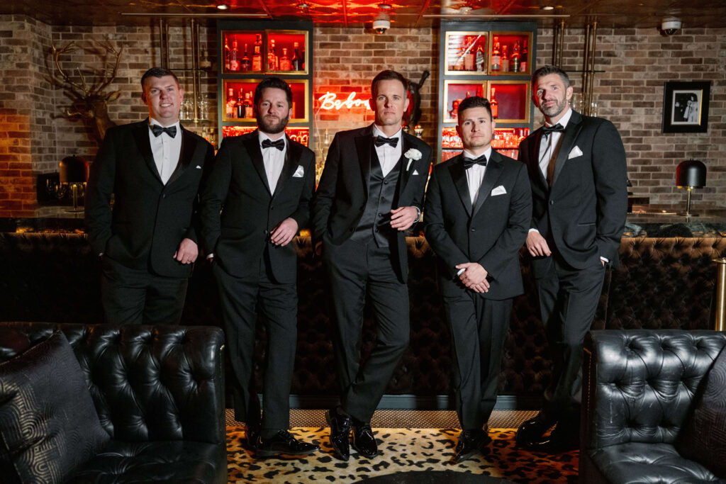
<svg viewBox="0 0 726 484"><path fill-rule="evenodd" d="M106 243L112 235L110 203L116 177L115 133L116 130L109 130L106 134L96 160L91 165L86 188L86 229L89 243L96 254L105 252Z"/></svg>

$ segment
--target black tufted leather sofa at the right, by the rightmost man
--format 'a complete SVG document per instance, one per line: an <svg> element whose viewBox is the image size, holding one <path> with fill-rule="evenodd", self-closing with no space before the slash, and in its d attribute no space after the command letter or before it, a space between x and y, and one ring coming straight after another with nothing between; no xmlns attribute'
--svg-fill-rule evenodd
<svg viewBox="0 0 726 484"><path fill-rule="evenodd" d="M581 483L724 482L676 442L726 333L592 331L583 366Z"/></svg>

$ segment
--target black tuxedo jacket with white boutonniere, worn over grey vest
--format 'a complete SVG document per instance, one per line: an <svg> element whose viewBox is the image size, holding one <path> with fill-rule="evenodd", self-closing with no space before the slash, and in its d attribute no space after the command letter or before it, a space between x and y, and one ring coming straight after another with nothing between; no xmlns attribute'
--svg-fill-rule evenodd
<svg viewBox="0 0 726 484"><path fill-rule="evenodd" d="M326 240L340 245L354 233L363 216L368 200L370 171L375 147L372 141L373 125L365 128L341 131L335 134L327 152L325 169L315 193L313 204L314 242ZM398 192L393 208L423 208L423 196L431 169L431 147L412 136L403 133L401 149L401 171ZM405 157L409 149L417 150L418 160ZM404 231L396 234L396 270L399 280L406 282L408 254ZM323 248L325 250L325 247Z"/></svg>

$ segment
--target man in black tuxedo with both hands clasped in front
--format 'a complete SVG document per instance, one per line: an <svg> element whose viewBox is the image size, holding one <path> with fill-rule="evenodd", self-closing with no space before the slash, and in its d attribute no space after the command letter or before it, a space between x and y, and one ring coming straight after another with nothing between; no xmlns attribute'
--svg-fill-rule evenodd
<svg viewBox="0 0 726 484"><path fill-rule="evenodd" d="M519 249L532 213L526 166L492 149L489 101L464 99L457 119L464 151L433 168L423 213L452 332L462 428L453 462L492 440L486 422L497 403L512 300L523 292Z"/></svg>

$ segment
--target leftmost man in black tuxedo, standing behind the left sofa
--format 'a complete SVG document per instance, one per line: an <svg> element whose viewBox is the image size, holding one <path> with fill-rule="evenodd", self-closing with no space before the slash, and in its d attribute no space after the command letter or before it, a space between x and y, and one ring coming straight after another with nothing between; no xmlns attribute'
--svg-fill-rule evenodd
<svg viewBox="0 0 726 484"><path fill-rule="evenodd" d="M178 324L197 258L197 192L214 150L179 124L184 89L174 73L152 67L141 84L149 118L106 132L91 165L86 227L102 255L106 321Z"/></svg>

